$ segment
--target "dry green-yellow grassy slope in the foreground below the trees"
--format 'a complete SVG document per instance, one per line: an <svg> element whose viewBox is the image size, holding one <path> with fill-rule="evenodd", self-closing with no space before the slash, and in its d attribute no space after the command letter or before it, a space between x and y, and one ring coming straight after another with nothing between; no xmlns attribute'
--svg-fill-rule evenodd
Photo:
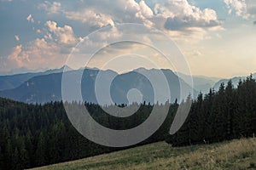
<svg viewBox="0 0 256 170"><path fill-rule="evenodd" d="M182 148L160 142L38 169L256 169L256 139Z"/></svg>

